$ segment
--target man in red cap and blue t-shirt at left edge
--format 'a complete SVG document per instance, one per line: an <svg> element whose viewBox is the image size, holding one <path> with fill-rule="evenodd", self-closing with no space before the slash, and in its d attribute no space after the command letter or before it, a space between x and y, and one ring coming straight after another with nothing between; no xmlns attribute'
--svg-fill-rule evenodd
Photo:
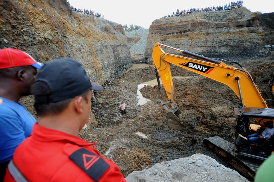
<svg viewBox="0 0 274 182"><path fill-rule="evenodd" d="M23 51L0 50L0 181L15 148L31 134L36 122L19 99L30 95L37 68L42 66Z"/></svg>

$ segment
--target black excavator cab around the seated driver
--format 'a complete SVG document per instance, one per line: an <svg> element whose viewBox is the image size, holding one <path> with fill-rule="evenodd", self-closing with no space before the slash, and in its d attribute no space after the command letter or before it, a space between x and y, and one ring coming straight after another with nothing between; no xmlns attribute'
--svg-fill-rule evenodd
<svg viewBox="0 0 274 182"><path fill-rule="evenodd" d="M233 137L235 154L241 156L252 157L260 160L265 160L274 152L274 137L269 140L259 141L256 144L251 144L249 140L245 140L239 136L244 137L259 133L263 130L262 127L265 121L273 121L274 109L272 108L257 108L257 107L241 107L234 109L235 114L238 115L236 120L236 129ZM260 125L251 124L251 118L261 118Z"/></svg>

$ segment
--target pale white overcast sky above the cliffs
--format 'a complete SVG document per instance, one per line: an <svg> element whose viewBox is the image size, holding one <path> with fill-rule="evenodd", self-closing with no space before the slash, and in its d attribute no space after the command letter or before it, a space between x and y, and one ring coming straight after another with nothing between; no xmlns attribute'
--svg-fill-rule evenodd
<svg viewBox="0 0 274 182"><path fill-rule="evenodd" d="M229 4L229 0L67 0L70 5L78 9L93 10L101 13L104 18L122 25L134 24L149 28L151 23L164 15L169 15L177 9L223 6ZM273 0L244 0L243 6L252 12L271 13L274 11Z"/></svg>

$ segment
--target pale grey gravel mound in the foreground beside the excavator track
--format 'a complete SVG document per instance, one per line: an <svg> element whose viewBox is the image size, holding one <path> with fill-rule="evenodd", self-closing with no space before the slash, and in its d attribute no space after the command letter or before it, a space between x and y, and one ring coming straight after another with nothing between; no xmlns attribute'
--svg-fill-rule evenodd
<svg viewBox="0 0 274 182"><path fill-rule="evenodd" d="M149 169L134 171L126 177L131 182L196 182L196 181L243 181L237 171L219 164L215 159L203 154L194 154L190 157L180 158L155 164Z"/></svg>

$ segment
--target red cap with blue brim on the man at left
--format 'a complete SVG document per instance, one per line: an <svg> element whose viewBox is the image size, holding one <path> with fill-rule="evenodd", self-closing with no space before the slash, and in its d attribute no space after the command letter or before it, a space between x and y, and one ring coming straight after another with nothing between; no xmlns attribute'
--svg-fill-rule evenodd
<svg viewBox="0 0 274 182"><path fill-rule="evenodd" d="M0 69L28 65L40 69L44 64L35 61L29 54L18 49L5 48L0 50Z"/></svg>

